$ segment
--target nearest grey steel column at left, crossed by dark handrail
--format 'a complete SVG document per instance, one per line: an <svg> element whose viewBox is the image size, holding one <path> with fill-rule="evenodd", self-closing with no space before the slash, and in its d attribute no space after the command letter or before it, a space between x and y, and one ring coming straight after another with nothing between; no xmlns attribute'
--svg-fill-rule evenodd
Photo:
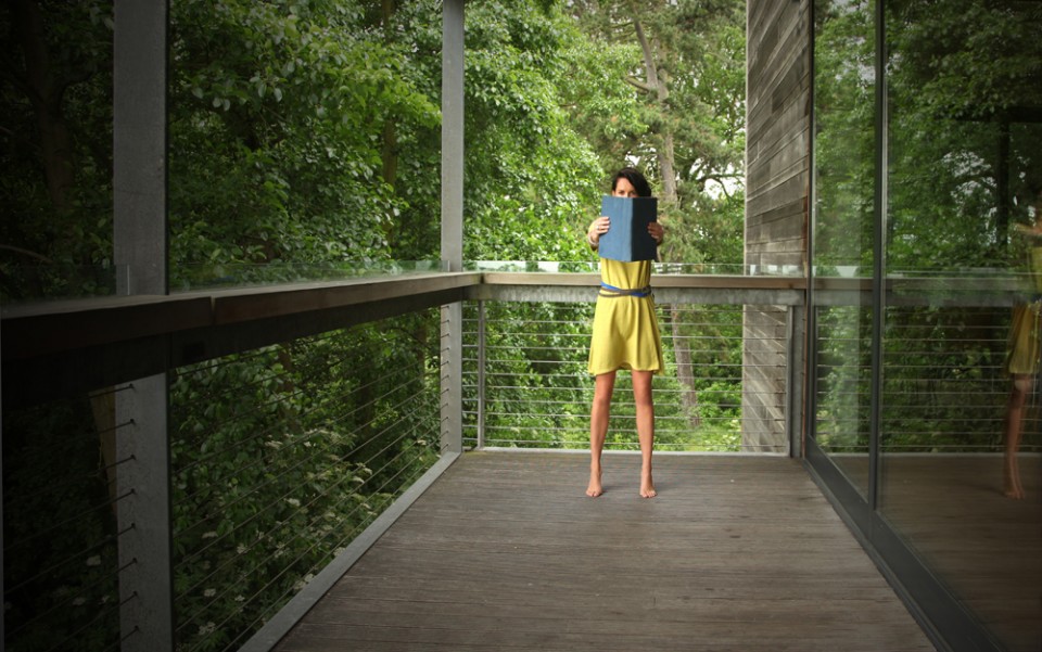
<svg viewBox="0 0 1042 652"><path fill-rule="evenodd" d="M167 0L117 1L113 40L113 258L124 295L167 294ZM116 395L124 652L174 650L167 376Z"/></svg>

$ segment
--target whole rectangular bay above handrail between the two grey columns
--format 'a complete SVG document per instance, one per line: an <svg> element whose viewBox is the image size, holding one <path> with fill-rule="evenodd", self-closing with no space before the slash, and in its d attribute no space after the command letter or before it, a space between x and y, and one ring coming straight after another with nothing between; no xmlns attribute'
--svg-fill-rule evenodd
<svg viewBox="0 0 1042 652"><path fill-rule="evenodd" d="M441 11L169 5L174 291L437 257Z"/></svg>

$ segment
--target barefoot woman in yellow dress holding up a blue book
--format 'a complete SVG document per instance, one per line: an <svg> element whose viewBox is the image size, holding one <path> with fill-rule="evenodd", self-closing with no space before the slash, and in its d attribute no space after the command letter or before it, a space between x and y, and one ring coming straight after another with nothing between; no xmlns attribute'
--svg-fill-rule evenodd
<svg viewBox="0 0 1042 652"><path fill-rule="evenodd" d="M649 197L651 187L637 170L623 168L611 179L611 194L617 197ZM598 217L586 229L586 242L596 250L600 236L610 228L609 218ZM648 233L657 244L662 244L662 225L649 223ZM589 372L595 376L595 385L589 414L590 462L586 495L596 498L603 494L600 458L608 435L611 393L615 386L615 372L630 369L637 407L637 438L640 442L640 496L653 498L651 449L655 445L655 405L651 400L651 376L661 373L665 365L650 292L651 260L621 263L601 258L600 281L589 346Z"/></svg>

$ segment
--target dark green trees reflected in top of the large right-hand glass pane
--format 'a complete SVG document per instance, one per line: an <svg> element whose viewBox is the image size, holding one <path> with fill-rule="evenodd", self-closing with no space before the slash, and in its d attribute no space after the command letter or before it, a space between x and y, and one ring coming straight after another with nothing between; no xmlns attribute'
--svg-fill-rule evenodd
<svg viewBox="0 0 1042 652"><path fill-rule="evenodd" d="M1042 192L1042 9L935 0L888 11L888 267L1004 266Z"/></svg>

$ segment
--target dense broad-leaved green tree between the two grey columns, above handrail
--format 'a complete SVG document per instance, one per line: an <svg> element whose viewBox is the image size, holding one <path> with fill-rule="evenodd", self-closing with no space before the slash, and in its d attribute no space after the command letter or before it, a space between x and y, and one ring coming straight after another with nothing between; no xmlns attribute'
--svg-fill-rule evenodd
<svg viewBox="0 0 1042 652"><path fill-rule="evenodd" d="M360 3L174 4L171 267L387 259L380 136L436 126Z"/></svg>

